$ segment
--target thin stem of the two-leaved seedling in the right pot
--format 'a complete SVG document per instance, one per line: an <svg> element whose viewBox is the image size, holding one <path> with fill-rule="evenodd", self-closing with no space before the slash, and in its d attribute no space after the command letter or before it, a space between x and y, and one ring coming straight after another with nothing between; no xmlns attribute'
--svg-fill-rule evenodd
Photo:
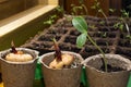
<svg viewBox="0 0 131 87"><path fill-rule="evenodd" d="M100 53L103 54L103 64L105 66L105 72L107 72L107 59L105 57L104 51L96 45L96 42L94 42L94 40L87 35L88 40L100 51Z"/></svg>

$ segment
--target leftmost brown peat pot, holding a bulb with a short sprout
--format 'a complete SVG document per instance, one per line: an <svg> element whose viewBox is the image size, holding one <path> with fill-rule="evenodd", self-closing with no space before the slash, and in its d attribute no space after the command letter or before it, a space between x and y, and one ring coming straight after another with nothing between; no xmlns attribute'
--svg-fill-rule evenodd
<svg viewBox="0 0 131 87"><path fill-rule="evenodd" d="M26 48L16 48L33 57L27 62L11 62L4 59L10 50L0 53L1 72L4 87L33 87L38 52Z"/></svg>

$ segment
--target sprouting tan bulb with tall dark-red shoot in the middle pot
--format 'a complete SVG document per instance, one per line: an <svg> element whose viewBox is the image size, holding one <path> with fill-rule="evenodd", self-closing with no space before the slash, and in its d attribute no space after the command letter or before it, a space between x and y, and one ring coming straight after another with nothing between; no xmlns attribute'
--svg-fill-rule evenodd
<svg viewBox="0 0 131 87"><path fill-rule="evenodd" d="M50 62L49 67L50 69L63 69L63 67L70 66L74 61L74 57L69 53L61 53L61 50L56 39L53 39L53 45L55 45L55 50L56 50L55 60Z"/></svg>

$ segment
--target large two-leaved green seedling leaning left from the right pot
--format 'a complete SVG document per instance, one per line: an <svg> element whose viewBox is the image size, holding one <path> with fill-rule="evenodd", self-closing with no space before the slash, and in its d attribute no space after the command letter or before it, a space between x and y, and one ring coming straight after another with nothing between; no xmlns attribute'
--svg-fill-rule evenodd
<svg viewBox="0 0 131 87"><path fill-rule="evenodd" d="M104 64L105 72L107 72L107 59L105 57L104 51L97 46L97 44L93 40L93 38L88 35L88 25L84 17L82 16L75 16L72 20L73 26L81 33L81 35L76 38L76 45L79 48L82 48L86 40L91 41L103 54L102 61Z"/></svg>

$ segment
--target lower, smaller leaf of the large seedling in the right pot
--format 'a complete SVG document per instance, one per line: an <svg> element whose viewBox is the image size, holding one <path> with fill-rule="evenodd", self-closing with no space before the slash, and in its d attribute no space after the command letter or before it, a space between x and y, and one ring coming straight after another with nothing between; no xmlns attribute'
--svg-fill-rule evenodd
<svg viewBox="0 0 131 87"><path fill-rule="evenodd" d="M86 39L87 39L86 36L87 36L87 34L84 33L84 34L81 34L81 35L76 38L76 46L78 46L79 48L82 48L82 47L85 45Z"/></svg>

